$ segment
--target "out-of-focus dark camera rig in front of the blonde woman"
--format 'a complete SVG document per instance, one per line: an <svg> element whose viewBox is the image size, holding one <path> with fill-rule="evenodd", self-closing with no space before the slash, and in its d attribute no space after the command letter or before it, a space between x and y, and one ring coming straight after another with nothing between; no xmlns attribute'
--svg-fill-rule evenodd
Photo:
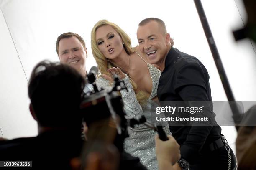
<svg viewBox="0 0 256 170"><path fill-rule="evenodd" d="M128 120L125 118L120 90L127 90L127 88L118 77L114 78L114 86L106 89L97 88L94 74L88 74L87 78L94 90L83 95L80 111L82 119L89 129L88 140L108 141L113 138L112 142L118 150L122 151L123 141L128 137ZM110 126L114 127L115 132ZM115 137L110 137L113 136L113 133L115 133Z"/></svg>

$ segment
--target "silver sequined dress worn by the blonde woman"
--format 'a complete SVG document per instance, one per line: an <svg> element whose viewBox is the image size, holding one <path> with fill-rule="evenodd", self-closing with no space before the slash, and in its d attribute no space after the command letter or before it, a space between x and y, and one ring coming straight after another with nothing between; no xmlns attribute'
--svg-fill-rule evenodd
<svg viewBox="0 0 256 170"><path fill-rule="evenodd" d="M136 99L136 95L133 91L133 87L129 81L128 76L123 80L127 86L128 92L125 90L121 91L122 99L124 102L124 110L128 117L139 116L144 114L146 119L150 122L155 122L151 120L151 114L156 114L151 111L151 106L155 105L151 100L156 97L156 91L158 87L158 81L161 76L161 71L156 67L148 64L148 69L152 78L152 92L146 103L142 108ZM109 86L109 81L100 77L96 80L96 84L99 87ZM162 117L162 116L161 116ZM167 122L164 122L164 131L166 134L171 134L169 131L169 125ZM141 124L136 126L135 129L131 129L128 138L125 139L124 150L135 157L139 157L141 163L145 165L148 170L158 170L158 163L156 160L155 153L155 140L154 136L157 132L154 132L152 129L149 129L145 125Z"/></svg>

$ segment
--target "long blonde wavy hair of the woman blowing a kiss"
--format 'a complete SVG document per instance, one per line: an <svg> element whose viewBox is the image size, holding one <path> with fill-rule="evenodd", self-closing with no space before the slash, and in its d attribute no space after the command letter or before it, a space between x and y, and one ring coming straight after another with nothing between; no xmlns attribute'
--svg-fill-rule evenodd
<svg viewBox="0 0 256 170"><path fill-rule="evenodd" d="M96 42L96 31L98 28L105 26L105 25L110 25L122 38L123 40L123 47L128 55L131 55L132 53L135 52L133 50L133 47L131 47L131 38L120 28L118 25L115 25L114 23L109 22L108 20L100 20L98 21L94 27L92 28L91 32L91 48L92 48L92 55L95 58L99 72L101 74L106 74L108 76L111 76L108 73L108 69L111 67L116 67L115 63L111 59L105 58L105 56L101 53L100 49L97 46ZM124 73L126 73L123 68L120 68ZM146 93L144 91L141 91L137 88L136 83L131 79L128 73L126 73L130 79L131 85L133 86L133 90L136 94L136 98L138 102L143 106L146 104L146 101L148 99L148 96L146 96Z"/></svg>

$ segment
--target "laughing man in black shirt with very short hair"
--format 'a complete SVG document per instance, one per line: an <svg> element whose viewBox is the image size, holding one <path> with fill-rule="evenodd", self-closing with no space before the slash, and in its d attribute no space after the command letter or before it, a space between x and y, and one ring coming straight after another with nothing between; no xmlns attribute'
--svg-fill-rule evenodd
<svg viewBox="0 0 256 170"><path fill-rule="evenodd" d="M162 71L157 89L159 101L212 100L207 70L197 58L172 47L172 39L162 20L142 20L137 38L141 52ZM228 145L225 145L221 128L214 120L212 102L205 104L211 119L207 126L170 126L170 131L181 145L181 157L189 162L189 169L227 169ZM236 158L231 149L230 152L230 168L233 169Z"/></svg>

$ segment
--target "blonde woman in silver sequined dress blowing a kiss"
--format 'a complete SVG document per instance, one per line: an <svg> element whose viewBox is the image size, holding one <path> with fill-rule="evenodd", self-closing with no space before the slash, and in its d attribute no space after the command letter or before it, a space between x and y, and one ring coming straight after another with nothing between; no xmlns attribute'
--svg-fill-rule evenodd
<svg viewBox="0 0 256 170"><path fill-rule="evenodd" d="M100 71L98 86L110 86L113 75L125 81L128 92L121 91L124 109L128 116L145 115L151 121L151 104L157 100L156 90L161 71L147 63L146 58L131 47L131 39L117 25L107 20L98 21L91 33L92 54ZM152 120L153 121L153 120ZM170 134L167 122L164 130ZM158 169L155 154L156 132L138 125L125 140L124 149L139 157L149 170Z"/></svg>

